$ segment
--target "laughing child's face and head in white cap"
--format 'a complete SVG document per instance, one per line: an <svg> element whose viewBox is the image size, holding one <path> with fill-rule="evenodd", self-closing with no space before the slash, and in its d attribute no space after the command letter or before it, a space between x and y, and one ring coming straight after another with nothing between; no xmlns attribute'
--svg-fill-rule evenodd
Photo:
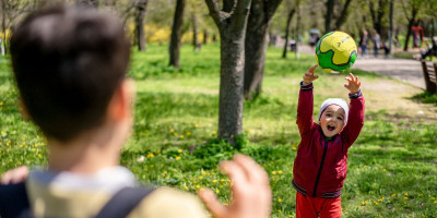
<svg viewBox="0 0 437 218"><path fill-rule="evenodd" d="M319 124L324 136L336 135L347 124L349 106L341 98L328 98L321 104Z"/></svg>

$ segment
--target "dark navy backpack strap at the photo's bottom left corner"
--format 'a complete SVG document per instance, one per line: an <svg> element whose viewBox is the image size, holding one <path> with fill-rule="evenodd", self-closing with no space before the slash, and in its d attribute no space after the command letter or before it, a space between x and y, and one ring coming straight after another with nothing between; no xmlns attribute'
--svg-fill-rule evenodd
<svg viewBox="0 0 437 218"><path fill-rule="evenodd" d="M0 217L15 218L28 210L29 204L25 182L0 185Z"/></svg>

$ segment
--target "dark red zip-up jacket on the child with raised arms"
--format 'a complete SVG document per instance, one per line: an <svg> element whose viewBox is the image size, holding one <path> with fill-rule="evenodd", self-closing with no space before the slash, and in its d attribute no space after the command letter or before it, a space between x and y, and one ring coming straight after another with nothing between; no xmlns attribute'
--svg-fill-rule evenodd
<svg viewBox="0 0 437 218"><path fill-rule="evenodd" d="M312 84L302 85L297 106L300 144L293 166L293 186L303 195L331 198L341 194L347 172L347 149L358 137L364 124L364 97L351 95L346 126L327 138L314 122Z"/></svg>

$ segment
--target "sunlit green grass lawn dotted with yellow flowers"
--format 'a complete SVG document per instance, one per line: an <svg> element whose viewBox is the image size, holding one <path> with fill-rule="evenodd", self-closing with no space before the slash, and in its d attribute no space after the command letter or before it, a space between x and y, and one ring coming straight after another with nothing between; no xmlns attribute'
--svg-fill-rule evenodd
<svg viewBox="0 0 437 218"><path fill-rule="evenodd" d="M135 122L121 164L142 182L189 192L209 186L225 202L229 181L216 165L235 153L247 154L270 175L272 217L293 217L292 169L300 141L295 124L298 83L314 57L295 60L292 55L284 60L281 49L269 50L263 94L244 105L244 145L236 150L216 140L218 46L204 46L199 52L182 47L179 70L167 65L166 46L147 49L132 57ZM353 72L367 82L380 78ZM341 87L344 75L318 73L316 106L339 94L346 98ZM46 143L32 123L20 118L8 59L0 61L0 172L20 165L44 166ZM365 126L349 153L343 217L437 217L437 126L414 118L398 121L395 114L402 111L366 107Z"/></svg>

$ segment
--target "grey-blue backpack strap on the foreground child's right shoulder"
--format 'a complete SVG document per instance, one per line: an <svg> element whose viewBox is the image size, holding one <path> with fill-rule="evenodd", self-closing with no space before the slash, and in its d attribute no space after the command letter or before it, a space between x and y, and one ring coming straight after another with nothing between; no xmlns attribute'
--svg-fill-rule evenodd
<svg viewBox="0 0 437 218"><path fill-rule="evenodd" d="M123 187L102 208L95 218L125 218L153 189Z"/></svg>

